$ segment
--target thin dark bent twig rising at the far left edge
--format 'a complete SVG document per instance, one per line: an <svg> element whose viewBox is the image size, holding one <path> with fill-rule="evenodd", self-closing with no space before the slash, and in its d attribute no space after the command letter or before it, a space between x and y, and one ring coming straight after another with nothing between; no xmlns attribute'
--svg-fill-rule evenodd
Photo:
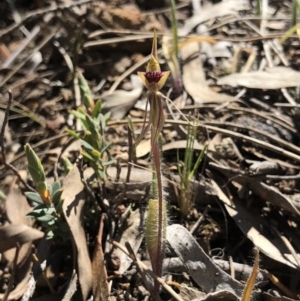
<svg viewBox="0 0 300 301"><path fill-rule="evenodd" d="M24 185L24 187L27 190L35 192L35 190L23 180L23 178L20 175L19 171L13 165L6 162L4 136L5 136L6 125L7 125L7 122L8 122L9 110L10 110L10 107L11 107L11 104L12 104L12 92L11 92L11 90L7 90L7 93L8 93L7 108L6 108L6 111L5 111L4 120L3 120L3 123L2 123L1 132L0 132L0 146L1 146L1 155L2 155L3 165L6 166L8 169L10 169L18 177L20 182Z"/></svg>

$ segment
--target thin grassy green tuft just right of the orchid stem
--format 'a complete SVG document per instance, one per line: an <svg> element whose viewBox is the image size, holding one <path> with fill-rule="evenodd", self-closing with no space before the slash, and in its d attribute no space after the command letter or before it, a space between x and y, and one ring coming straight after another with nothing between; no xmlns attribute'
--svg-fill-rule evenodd
<svg viewBox="0 0 300 301"><path fill-rule="evenodd" d="M189 117L189 123L187 128L187 138L186 138L186 148L184 152L184 162L180 162L179 155L177 153L177 168L180 177L181 189L180 194L178 196L178 203L180 212L183 216L186 216L193 204L193 195L191 191L191 181L195 176L196 171L202 159L205 155L207 144L204 145L201 153L199 154L194 166L193 157L194 157L194 144L196 141L196 134L197 134L197 126L191 124L191 116Z"/></svg>

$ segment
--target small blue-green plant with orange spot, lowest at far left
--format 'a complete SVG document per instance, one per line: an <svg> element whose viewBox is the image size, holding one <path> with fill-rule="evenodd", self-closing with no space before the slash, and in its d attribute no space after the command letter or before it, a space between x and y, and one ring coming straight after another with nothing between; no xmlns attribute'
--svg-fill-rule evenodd
<svg viewBox="0 0 300 301"><path fill-rule="evenodd" d="M35 205L27 216L41 222L47 229L47 238L54 236L64 238L68 230L62 212L62 189L60 182L52 186L46 182L43 165L29 144L25 145L28 170L37 192L25 192L27 198Z"/></svg>

